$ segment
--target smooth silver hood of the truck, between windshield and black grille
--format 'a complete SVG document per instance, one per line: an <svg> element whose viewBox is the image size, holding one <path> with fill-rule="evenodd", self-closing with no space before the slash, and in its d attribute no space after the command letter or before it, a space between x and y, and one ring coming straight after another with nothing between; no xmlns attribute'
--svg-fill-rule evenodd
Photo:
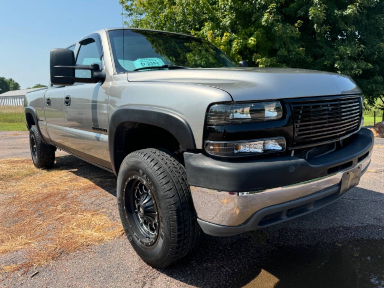
<svg viewBox="0 0 384 288"><path fill-rule="evenodd" d="M234 101L361 93L348 76L293 68L199 68L128 73L128 81L194 83L227 91Z"/></svg>

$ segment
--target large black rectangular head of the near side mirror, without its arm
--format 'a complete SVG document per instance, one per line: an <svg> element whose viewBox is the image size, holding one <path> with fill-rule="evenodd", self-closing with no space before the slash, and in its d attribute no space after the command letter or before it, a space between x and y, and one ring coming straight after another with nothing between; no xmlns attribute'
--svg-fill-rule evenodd
<svg viewBox="0 0 384 288"><path fill-rule="evenodd" d="M74 83L74 68L55 66L74 66L74 53L69 49L52 49L50 55L51 83L54 85L72 85Z"/></svg>

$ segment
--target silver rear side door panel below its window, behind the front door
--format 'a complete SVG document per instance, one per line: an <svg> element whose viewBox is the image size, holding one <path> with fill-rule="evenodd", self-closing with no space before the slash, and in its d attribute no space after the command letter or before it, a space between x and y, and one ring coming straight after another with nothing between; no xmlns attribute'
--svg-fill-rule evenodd
<svg viewBox="0 0 384 288"><path fill-rule="evenodd" d="M44 112L49 137L56 146L67 146L64 118L65 86L50 85L44 96Z"/></svg>

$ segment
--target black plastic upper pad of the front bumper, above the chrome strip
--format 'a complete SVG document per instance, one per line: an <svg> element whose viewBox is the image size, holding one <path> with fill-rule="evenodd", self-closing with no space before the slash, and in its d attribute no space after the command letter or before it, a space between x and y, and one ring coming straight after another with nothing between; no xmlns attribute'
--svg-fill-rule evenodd
<svg viewBox="0 0 384 288"><path fill-rule="evenodd" d="M283 187L328 175L328 169L353 162L371 153L372 131L362 128L347 146L327 155L305 160L279 156L249 161L220 161L202 153L184 153L188 183L227 192L248 192Z"/></svg>

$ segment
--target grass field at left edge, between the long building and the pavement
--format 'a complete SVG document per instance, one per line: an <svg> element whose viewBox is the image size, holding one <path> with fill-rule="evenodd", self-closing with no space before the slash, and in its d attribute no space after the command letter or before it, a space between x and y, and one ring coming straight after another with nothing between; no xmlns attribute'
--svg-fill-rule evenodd
<svg viewBox="0 0 384 288"><path fill-rule="evenodd" d="M22 106L0 106L0 131L27 131Z"/></svg>

